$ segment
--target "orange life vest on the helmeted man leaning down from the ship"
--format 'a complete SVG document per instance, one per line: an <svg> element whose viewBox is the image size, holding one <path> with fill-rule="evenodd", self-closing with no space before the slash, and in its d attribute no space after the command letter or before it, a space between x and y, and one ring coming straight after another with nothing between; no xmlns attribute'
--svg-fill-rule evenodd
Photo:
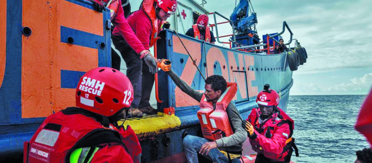
<svg viewBox="0 0 372 163"><path fill-rule="evenodd" d="M156 17L156 12L154 8L154 3L155 3L155 0L143 0L141 4L142 10L145 12L147 17L150 19L151 26L153 28L151 30L151 35L150 35L150 47L153 47L156 40L159 39L157 37L158 31L160 31L164 23L163 20L160 21L160 24L158 23L158 19Z"/></svg>

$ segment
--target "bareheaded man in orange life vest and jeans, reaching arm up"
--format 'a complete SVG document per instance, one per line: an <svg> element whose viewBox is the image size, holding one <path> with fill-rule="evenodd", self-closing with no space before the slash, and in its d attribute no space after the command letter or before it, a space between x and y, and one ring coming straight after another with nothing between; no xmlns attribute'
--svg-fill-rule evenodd
<svg viewBox="0 0 372 163"><path fill-rule="evenodd" d="M240 163L242 144L247 137L240 114L230 102L237 92L236 83L227 83L224 77L212 75L205 80L205 93L200 93L188 86L170 68L161 65L159 67L167 71L183 92L200 102L198 118L204 138L187 135L183 139L187 161L198 163L200 153L213 162Z"/></svg>

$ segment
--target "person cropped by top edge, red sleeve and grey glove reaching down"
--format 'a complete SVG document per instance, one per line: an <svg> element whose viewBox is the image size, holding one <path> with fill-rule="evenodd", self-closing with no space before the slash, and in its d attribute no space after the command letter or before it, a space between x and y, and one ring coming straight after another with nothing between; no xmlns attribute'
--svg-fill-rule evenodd
<svg viewBox="0 0 372 163"><path fill-rule="evenodd" d="M143 58L145 63L148 65L151 73L155 74L155 72L157 71L156 68L157 60L153 57L153 55L147 55L151 54L151 52L148 51L148 48L145 48L144 45L142 45L141 41L133 32L131 26L129 26L128 21L125 19L124 16L122 1L121 0L91 0L91 1L93 3L94 9L96 9L99 12L105 10L105 7L110 9L111 22L116 29L115 35L120 36L123 40L125 40L125 42L128 42L127 46L133 49L134 51L133 55ZM120 57L113 55L111 58L112 65L115 66L113 68L120 70Z"/></svg>

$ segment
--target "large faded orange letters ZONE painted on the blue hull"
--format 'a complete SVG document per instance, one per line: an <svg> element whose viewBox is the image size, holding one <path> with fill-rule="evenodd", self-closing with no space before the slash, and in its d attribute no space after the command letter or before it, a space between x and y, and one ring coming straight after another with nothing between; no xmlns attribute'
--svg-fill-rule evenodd
<svg viewBox="0 0 372 163"><path fill-rule="evenodd" d="M182 39L182 38L181 38ZM192 58L195 60L196 65L200 64L201 61L201 44L199 42L193 42L187 39L182 39L182 42L185 44L186 48L188 49L190 55ZM176 53L180 54L187 54L185 48L177 38L177 36L173 36L173 51ZM258 90L257 87L252 87L251 81L256 80L256 77L254 75L254 71L246 71L246 75L244 72L247 70L249 66L254 65L254 57L253 56L248 56L248 55L243 55L243 54L238 54L239 58L239 65L246 67L245 70L242 70L242 67L237 70L237 63L234 58L234 54L232 52L228 52L228 61L229 65L233 67L231 68L225 68L221 69L222 71L222 76L230 82L235 82L238 84L238 89L240 90L240 96L241 98L247 98L247 93L249 97L257 96ZM245 60L245 63L243 63L243 57ZM212 47L209 49L206 55L206 60L208 61L207 64L207 69L208 69L208 76L211 76L214 74L214 68L213 65L215 61L218 61L219 64L226 65L226 60L224 55L222 54L221 50ZM229 76L229 71L230 71L230 76ZM233 71L241 71L241 72L233 72ZM195 73L199 73L195 65L193 65L192 60L187 60L184 71L182 72L180 78L184 80L187 84L191 85L193 78L195 76ZM247 81L247 83L246 83ZM248 92L246 91L248 87ZM199 92L204 92L204 90L199 90ZM199 102L197 102L195 99L191 98L190 96L186 95L186 93L183 93L178 87L176 87L175 90L175 96L176 96L176 106L177 107L182 107L182 106L192 106L192 105L199 105ZM235 95L235 99L237 96Z"/></svg>

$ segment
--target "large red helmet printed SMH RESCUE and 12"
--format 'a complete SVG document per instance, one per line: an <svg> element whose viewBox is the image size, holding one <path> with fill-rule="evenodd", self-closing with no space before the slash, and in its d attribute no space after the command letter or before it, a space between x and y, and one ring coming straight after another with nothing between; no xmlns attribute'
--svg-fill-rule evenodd
<svg viewBox="0 0 372 163"><path fill-rule="evenodd" d="M103 116L131 106L132 101L131 81L122 72L109 67L88 71L76 88L76 106Z"/></svg>

